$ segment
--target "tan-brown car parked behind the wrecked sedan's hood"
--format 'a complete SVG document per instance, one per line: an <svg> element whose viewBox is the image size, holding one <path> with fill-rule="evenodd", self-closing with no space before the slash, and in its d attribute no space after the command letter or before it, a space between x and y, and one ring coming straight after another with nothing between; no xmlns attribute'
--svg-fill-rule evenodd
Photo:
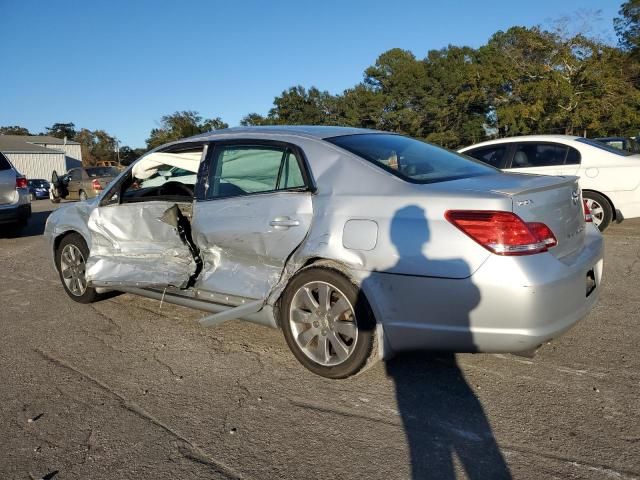
<svg viewBox="0 0 640 480"><path fill-rule="evenodd" d="M62 176L54 170L49 197L54 203L61 199L84 201L95 198L119 173L115 167L72 168Z"/></svg>

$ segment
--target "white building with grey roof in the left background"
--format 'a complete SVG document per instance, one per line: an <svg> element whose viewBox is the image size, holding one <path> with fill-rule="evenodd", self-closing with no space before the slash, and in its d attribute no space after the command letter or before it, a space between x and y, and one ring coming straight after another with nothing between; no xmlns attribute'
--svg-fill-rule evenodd
<svg viewBox="0 0 640 480"><path fill-rule="evenodd" d="M64 173L82 165L78 142L46 135L0 135L0 152L27 178L51 179L51 172Z"/></svg>

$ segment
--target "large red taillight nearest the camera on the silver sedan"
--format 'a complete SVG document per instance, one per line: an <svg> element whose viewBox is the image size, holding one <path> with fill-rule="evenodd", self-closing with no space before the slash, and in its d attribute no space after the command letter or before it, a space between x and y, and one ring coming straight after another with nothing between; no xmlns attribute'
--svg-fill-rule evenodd
<svg viewBox="0 0 640 480"><path fill-rule="evenodd" d="M544 223L526 223L512 212L449 210L445 217L497 255L530 255L546 252L558 244Z"/></svg>

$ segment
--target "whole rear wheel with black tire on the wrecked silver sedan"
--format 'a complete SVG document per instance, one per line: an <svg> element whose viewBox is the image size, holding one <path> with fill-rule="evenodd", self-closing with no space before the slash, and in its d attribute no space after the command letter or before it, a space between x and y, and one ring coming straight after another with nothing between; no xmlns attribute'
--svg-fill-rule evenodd
<svg viewBox="0 0 640 480"><path fill-rule="evenodd" d="M309 267L293 277L279 317L291 352L317 375L350 377L374 355L371 308L361 290L336 270Z"/></svg>

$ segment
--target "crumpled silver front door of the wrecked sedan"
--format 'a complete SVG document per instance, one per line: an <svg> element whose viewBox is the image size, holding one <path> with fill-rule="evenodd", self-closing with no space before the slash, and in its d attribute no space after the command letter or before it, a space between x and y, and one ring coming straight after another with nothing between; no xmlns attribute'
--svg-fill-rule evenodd
<svg viewBox="0 0 640 480"><path fill-rule="evenodd" d="M195 271L189 248L161 221L173 202L96 208L89 217L87 280L95 286L183 287Z"/></svg>

